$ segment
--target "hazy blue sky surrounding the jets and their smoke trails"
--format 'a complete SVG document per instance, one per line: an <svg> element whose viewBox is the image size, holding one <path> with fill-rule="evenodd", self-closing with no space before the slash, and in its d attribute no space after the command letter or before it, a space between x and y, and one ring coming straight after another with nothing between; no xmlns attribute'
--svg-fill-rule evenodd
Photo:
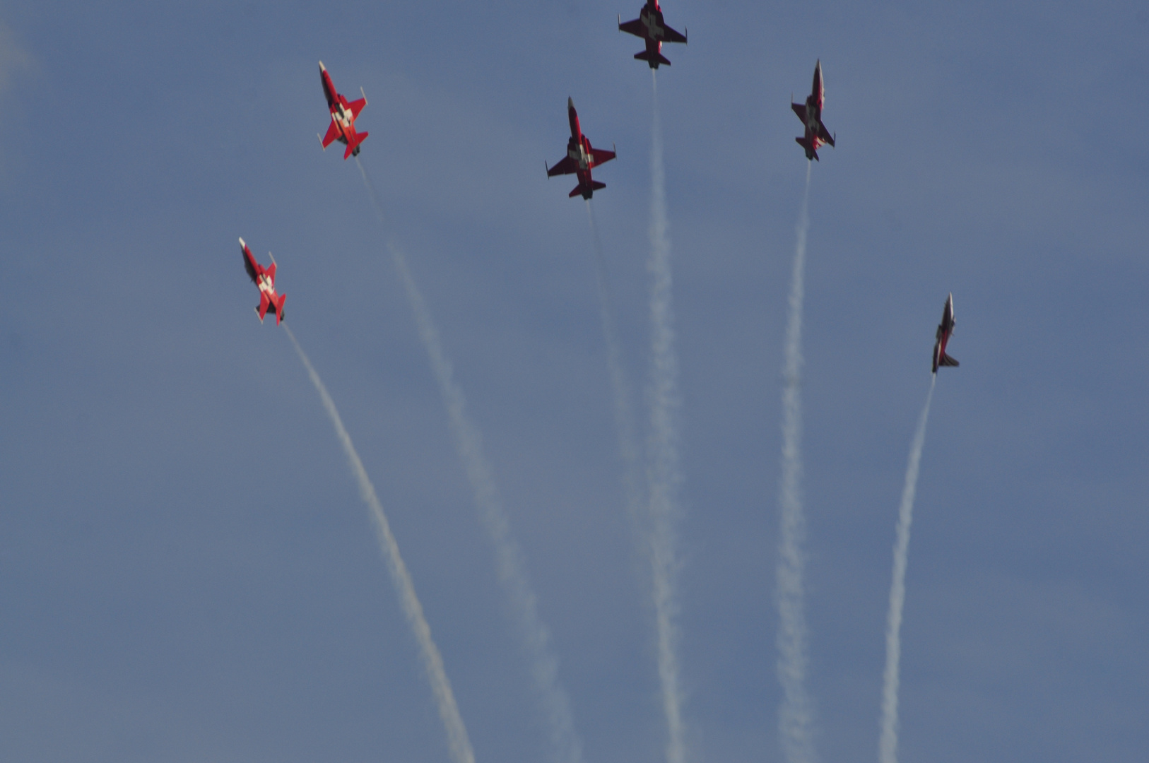
<svg viewBox="0 0 1149 763"><path fill-rule="evenodd" d="M643 382L639 3L0 7L0 757L448 760L369 517L237 237L388 511L480 761L549 760L438 390L317 61L435 316L588 763L655 763L572 97ZM1149 11L668 2L692 763L778 761L781 340L813 167L805 495L817 747L874 760L890 547L946 294L902 631L905 761L1149 746Z"/></svg>

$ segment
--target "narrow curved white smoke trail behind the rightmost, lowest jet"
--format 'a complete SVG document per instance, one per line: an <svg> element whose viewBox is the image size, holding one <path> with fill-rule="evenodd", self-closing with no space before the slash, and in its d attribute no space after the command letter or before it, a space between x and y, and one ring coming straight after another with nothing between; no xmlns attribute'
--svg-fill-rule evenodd
<svg viewBox="0 0 1149 763"><path fill-rule="evenodd" d="M881 737L878 740L878 760L881 763L897 763L897 684L902 660L902 606L905 603L905 563L910 549L910 522L913 519L913 495L918 488L918 467L921 448L926 442L926 421L933 401L934 384L930 382L930 394L918 417L918 429L910 445L910 461L905 467L905 486L902 488L902 506L897 510L897 530L894 539L894 579L889 586L889 616L886 619L886 672L881 688Z"/></svg>

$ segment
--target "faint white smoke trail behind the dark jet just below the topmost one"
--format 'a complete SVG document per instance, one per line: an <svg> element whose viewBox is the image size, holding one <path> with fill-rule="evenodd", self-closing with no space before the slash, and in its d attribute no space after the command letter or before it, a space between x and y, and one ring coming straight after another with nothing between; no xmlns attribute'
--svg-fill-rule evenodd
<svg viewBox="0 0 1149 763"><path fill-rule="evenodd" d="M610 372L610 386L615 395L615 429L618 433L618 455L623 461L623 490L626 498L626 510L635 527L645 527L642 507L642 480L639 465L639 445L635 436L634 410L631 408L631 383L626 377L623 363L622 342L618 340L618 329L615 325L615 313L611 309L610 284L607 280L607 262L602 254L602 240L599 238L599 225L594 219L594 208L586 200L586 215L591 223L591 236L594 238L594 283L599 292L599 317L602 321L602 334L607 342L607 369ZM645 537L645 531L643 537Z"/></svg>

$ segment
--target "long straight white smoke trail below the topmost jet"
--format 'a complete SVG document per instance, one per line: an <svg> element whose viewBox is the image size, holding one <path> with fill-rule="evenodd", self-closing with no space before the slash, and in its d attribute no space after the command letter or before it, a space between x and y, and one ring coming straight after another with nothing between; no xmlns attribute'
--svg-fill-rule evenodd
<svg viewBox="0 0 1149 763"><path fill-rule="evenodd" d="M678 664L678 573L676 524L681 515L679 490L678 352L674 348L674 314L670 237L666 219L666 176L662 164L662 123L658 118L658 76L651 69L653 122L650 130L650 433L647 481L650 507L650 562L654 573L654 608L658 642L658 680L666 716L668 763L685 763L683 688Z"/></svg>

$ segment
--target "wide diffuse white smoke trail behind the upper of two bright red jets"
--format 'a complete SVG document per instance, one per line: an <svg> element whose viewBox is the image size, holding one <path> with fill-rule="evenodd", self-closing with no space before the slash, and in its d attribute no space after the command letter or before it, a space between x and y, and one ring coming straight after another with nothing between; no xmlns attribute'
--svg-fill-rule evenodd
<svg viewBox="0 0 1149 763"><path fill-rule="evenodd" d="M383 214L383 207L375 194L375 186L371 184L363 164L358 162L357 157L355 161L363 175L363 185L367 186L367 192L371 196L375 211L386 228L386 216ZM452 434L455 438L455 448L463 462L463 470L466 472L466 479L475 494L479 517L495 547L499 581L510 599L516 625L531 663L531 673L535 689L542 700L555 761L556 763L581 763L583 745L574 731L574 717L566 691L558 681L558 661L550 653L550 633L539 618L538 601L526 573L523 552L511 537L510 523L503 510L502 499L495 486L491 465L483 452L483 436L466 415L463 390L454 379L450 360L439 339L439 330L431 318L431 311L423 299L423 293L419 292L407 264L407 256L395 245L390 233L387 234L387 249L391 252L395 270L399 271L403 282L419 339L431 360L431 370L439 384L444 406L447 408Z"/></svg>

